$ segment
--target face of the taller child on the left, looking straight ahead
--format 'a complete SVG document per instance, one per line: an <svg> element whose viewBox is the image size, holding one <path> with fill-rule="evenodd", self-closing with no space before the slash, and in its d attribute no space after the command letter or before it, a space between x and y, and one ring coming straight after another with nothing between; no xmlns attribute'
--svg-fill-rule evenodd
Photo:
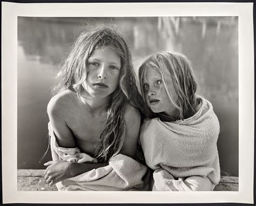
<svg viewBox="0 0 256 206"><path fill-rule="evenodd" d="M119 84L120 68L120 57L110 47L95 49L87 60L84 88L95 98L109 96Z"/></svg>

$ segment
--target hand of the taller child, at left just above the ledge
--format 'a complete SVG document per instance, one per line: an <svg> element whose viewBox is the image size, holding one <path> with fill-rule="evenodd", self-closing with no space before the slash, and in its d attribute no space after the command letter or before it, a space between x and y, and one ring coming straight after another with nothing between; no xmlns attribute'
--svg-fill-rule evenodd
<svg viewBox="0 0 256 206"><path fill-rule="evenodd" d="M53 186L66 178L71 177L70 174L71 162L66 161L49 161L44 163L44 166L48 166L44 171L44 178L49 186Z"/></svg>

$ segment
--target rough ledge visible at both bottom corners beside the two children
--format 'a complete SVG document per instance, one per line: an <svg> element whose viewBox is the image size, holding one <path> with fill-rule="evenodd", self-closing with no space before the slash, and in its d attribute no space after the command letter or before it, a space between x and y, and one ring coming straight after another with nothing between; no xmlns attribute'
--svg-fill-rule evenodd
<svg viewBox="0 0 256 206"><path fill-rule="evenodd" d="M18 191L57 191L46 184L43 169L18 169L17 176ZM238 177L221 176L214 191L238 191Z"/></svg>

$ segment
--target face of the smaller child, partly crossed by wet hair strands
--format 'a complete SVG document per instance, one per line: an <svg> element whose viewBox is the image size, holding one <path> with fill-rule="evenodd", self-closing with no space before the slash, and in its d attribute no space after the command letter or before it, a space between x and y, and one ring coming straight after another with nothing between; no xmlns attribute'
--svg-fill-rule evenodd
<svg viewBox="0 0 256 206"><path fill-rule="evenodd" d="M177 102L178 94L174 88L171 73L164 68L164 76L167 88L171 94L172 100ZM178 109L169 100L161 74L156 67L148 66L143 78L144 98L147 105L154 113L165 112L167 115L174 117Z"/></svg>

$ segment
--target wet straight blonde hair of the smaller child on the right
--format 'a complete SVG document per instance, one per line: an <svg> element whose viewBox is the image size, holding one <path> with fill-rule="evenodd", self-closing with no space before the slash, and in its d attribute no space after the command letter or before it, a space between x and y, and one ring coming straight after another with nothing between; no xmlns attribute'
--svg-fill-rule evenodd
<svg viewBox="0 0 256 206"><path fill-rule="evenodd" d="M161 75L161 80L163 81L167 96L172 104L178 109L178 114L176 116L168 116L164 112L154 113L149 105L147 105L143 88L143 79L148 67L156 68ZM166 68L171 73L173 85L178 94L177 101L173 101L172 94L167 87L166 77L164 75L164 70ZM196 113L198 105L195 97L197 83L193 77L191 61L188 60L184 54L167 51L153 54L139 67L139 80L140 92L143 95L144 111L146 111L145 115L147 118L152 119L159 117L164 121L176 121L190 118Z"/></svg>

